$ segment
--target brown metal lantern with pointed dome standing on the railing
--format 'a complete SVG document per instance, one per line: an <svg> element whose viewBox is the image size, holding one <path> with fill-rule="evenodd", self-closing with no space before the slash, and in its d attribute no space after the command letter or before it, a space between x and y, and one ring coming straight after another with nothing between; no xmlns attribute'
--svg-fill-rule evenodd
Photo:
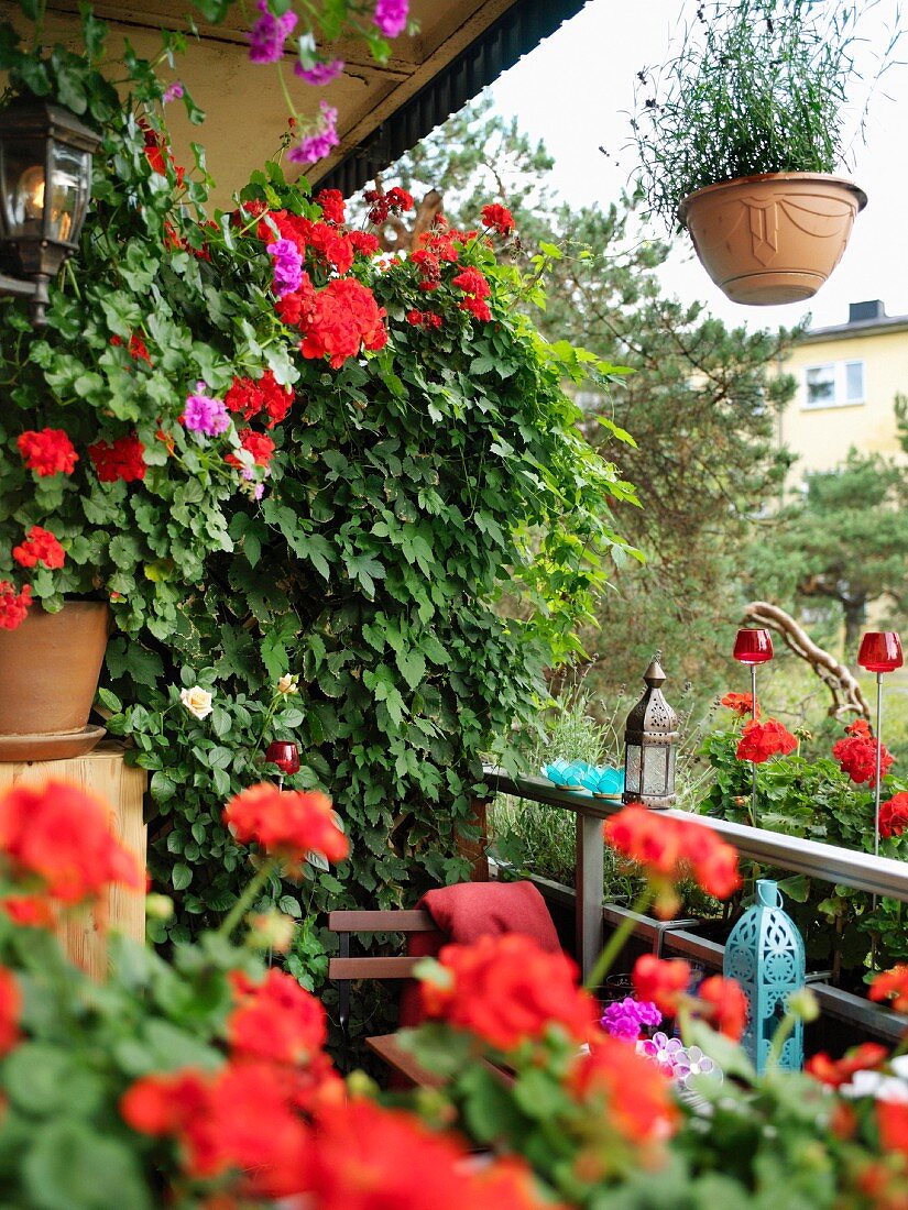
<svg viewBox="0 0 908 1210"><path fill-rule="evenodd" d="M623 802L671 807L674 802L674 755L678 715L662 697L665 673L654 659L643 680L646 692L625 724Z"/></svg>

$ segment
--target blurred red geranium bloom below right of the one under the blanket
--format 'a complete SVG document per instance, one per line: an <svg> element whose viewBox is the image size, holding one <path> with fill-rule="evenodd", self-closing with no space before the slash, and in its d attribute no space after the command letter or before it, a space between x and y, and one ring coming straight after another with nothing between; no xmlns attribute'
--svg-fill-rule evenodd
<svg viewBox="0 0 908 1210"><path fill-rule="evenodd" d="M588 1054L577 1059L568 1087L580 1101L600 1106L597 1118L605 1139L617 1130L628 1142L662 1142L674 1133L680 1117L671 1081L659 1066L608 1033L597 1037Z"/></svg>

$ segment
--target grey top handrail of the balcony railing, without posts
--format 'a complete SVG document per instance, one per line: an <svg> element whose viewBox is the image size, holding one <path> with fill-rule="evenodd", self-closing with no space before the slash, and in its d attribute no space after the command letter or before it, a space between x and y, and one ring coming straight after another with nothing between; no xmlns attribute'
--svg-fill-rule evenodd
<svg viewBox="0 0 908 1210"><path fill-rule="evenodd" d="M561 807L596 819L608 819L621 809L620 802L594 799L588 793L559 790L541 777L511 777L493 766L485 766L483 772L493 790L528 799L531 802ZM874 857L873 853L841 848L838 845L821 845L800 836L787 836L764 828L712 819L689 811L660 813L712 828L729 845L734 845L741 857L748 857L762 865L775 865L793 874L806 874L824 882L840 882L855 891L869 891L872 894L908 903L908 862Z"/></svg>

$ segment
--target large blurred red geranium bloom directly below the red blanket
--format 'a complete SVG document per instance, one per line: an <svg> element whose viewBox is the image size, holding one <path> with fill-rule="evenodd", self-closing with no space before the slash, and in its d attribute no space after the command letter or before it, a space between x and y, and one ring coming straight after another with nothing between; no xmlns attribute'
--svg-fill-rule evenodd
<svg viewBox="0 0 908 1210"><path fill-rule="evenodd" d="M591 1031L594 1004L576 985L576 967L529 937L507 933L446 945L438 962L443 981L420 985L425 1015L470 1030L499 1050L541 1038L553 1024L579 1041Z"/></svg>

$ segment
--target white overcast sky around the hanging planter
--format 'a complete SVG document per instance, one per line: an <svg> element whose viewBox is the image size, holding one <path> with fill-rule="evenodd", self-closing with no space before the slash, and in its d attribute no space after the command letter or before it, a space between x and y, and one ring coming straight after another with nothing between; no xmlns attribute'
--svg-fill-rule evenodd
<svg viewBox="0 0 908 1210"><path fill-rule="evenodd" d="M634 74L663 62L680 16L693 16L695 7L696 0L590 0L494 85L496 108L545 140L556 161L554 185L567 200L608 204L627 183L634 166L627 146ZM868 33L883 36L879 25ZM908 58L908 45L902 57ZM841 264L814 299L785 307L730 302L686 240L662 270L666 288L748 327L792 325L808 312L815 327L844 323L849 302L875 298L889 315L908 313L908 68L887 74L885 92L891 99L877 96L867 143L855 146L849 173L868 206Z"/></svg>

